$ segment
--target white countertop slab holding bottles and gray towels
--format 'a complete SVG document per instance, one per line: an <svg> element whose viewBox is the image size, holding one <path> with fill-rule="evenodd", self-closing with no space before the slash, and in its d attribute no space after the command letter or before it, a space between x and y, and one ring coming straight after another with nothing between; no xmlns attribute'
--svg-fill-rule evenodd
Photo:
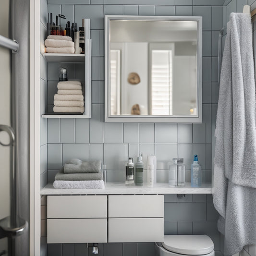
<svg viewBox="0 0 256 256"><path fill-rule="evenodd" d="M190 183L184 187L169 187L168 183L157 183L153 187L126 186L124 183L106 183L105 189L55 189L52 184L41 189L41 195L144 195L144 194L211 194L211 183L192 188Z"/></svg>

